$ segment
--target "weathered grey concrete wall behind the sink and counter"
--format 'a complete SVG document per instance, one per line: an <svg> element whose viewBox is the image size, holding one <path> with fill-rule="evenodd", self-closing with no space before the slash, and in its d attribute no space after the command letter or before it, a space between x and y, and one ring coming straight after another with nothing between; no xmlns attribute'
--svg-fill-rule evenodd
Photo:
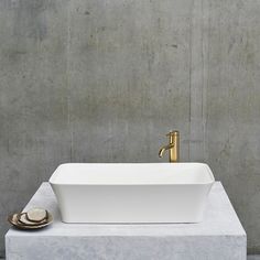
<svg viewBox="0 0 260 260"><path fill-rule="evenodd" d="M207 162L260 252L260 2L0 1L0 235L64 162Z"/></svg>

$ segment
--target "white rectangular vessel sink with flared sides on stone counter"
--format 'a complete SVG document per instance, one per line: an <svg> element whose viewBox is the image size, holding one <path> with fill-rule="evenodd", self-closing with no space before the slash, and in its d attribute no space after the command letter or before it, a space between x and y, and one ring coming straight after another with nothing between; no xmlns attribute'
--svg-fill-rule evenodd
<svg viewBox="0 0 260 260"><path fill-rule="evenodd" d="M50 178L64 223L198 223L214 182L204 163L68 163Z"/></svg>

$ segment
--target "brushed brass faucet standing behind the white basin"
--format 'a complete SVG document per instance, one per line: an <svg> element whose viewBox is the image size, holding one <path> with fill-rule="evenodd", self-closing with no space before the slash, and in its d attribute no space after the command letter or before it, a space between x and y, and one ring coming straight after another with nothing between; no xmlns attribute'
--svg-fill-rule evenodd
<svg viewBox="0 0 260 260"><path fill-rule="evenodd" d="M162 158L163 153L169 150L169 159L170 162L178 162L180 161L180 132L178 131L171 131L166 134L170 137L170 143L164 145L159 151L159 156Z"/></svg>

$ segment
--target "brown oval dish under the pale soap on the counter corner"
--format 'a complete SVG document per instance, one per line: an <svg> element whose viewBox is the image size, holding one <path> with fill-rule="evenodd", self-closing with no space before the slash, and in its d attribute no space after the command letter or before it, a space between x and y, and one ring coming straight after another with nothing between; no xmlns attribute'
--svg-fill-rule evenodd
<svg viewBox="0 0 260 260"><path fill-rule="evenodd" d="M33 209L30 209L29 213ZM53 217L51 213L46 210L46 216L35 221L34 219L28 217L28 213L14 213L8 217L8 221L19 229L32 230L48 226L52 224Z"/></svg>

